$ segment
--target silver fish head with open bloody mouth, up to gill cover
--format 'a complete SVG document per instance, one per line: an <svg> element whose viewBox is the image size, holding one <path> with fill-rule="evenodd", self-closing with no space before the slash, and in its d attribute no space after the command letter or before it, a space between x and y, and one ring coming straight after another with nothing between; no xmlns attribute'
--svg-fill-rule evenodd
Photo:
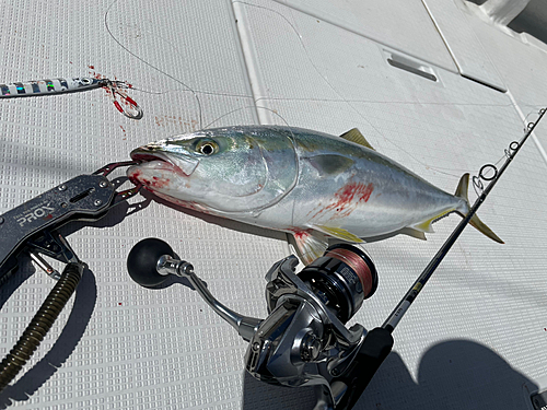
<svg viewBox="0 0 547 410"><path fill-rule="evenodd" d="M150 143L131 152L128 177L164 199L217 213L256 212L295 185L292 140L248 127L218 128Z"/></svg>

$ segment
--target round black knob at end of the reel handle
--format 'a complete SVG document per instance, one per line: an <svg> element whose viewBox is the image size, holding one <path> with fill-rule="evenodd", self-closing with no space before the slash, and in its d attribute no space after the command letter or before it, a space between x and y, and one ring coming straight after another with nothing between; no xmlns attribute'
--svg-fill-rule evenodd
<svg viewBox="0 0 547 410"><path fill-rule="evenodd" d="M131 279L142 286L163 283L168 276L160 274L156 269L158 260L163 255L174 257L175 253L162 239L149 237L136 244L127 256L127 270Z"/></svg>

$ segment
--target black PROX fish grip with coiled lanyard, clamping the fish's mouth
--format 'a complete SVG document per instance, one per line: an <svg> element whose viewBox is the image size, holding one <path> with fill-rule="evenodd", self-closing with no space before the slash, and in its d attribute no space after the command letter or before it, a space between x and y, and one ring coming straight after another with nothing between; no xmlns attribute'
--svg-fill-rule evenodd
<svg viewBox="0 0 547 410"><path fill-rule="evenodd" d="M132 161L113 163L92 175L77 176L0 215L0 285L16 271L22 255L30 256L57 280L15 347L0 363L0 391L38 348L82 277L85 263L57 229L73 221L96 221L137 195L140 186L118 192L106 178L115 168L133 164ZM43 255L67 263L62 273Z"/></svg>

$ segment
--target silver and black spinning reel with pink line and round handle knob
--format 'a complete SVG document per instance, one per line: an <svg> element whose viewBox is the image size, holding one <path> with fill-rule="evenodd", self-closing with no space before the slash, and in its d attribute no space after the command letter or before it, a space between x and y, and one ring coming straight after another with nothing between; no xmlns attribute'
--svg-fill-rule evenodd
<svg viewBox="0 0 547 410"><path fill-rule="evenodd" d="M242 316L221 304L186 261L165 242L139 242L127 258L131 278L143 286L170 274L186 278L201 297L248 341L245 367L255 378L280 386L315 386L316 410L351 409L393 345L391 332L345 324L374 294L377 274L361 249L334 245L295 273L294 256L266 274L268 317ZM370 377L369 377L370 376Z"/></svg>

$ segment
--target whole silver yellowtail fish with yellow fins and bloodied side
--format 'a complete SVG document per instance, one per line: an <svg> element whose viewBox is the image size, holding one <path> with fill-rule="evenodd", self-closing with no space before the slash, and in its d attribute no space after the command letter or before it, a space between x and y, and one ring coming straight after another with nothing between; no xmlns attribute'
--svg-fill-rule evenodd
<svg viewBox="0 0 547 410"><path fill-rule="evenodd" d="M424 239L452 212L466 215L469 174L447 194L376 152L357 129L340 137L276 126L207 129L131 152L128 177L200 212L291 233L304 262L327 238L406 233ZM470 224L503 243L476 215Z"/></svg>

